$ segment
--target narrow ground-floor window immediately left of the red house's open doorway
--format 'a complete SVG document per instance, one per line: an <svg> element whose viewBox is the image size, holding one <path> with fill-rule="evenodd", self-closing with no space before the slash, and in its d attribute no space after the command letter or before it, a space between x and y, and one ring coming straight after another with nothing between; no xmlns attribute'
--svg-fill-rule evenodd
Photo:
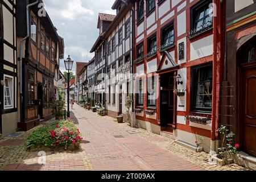
<svg viewBox="0 0 256 182"><path fill-rule="evenodd" d="M147 106L156 106L156 78L147 79Z"/></svg>

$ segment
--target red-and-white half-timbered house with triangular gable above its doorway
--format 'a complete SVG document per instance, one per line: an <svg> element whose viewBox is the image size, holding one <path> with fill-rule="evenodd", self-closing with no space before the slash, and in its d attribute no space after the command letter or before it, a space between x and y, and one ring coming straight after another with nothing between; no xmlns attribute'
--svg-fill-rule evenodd
<svg viewBox="0 0 256 182"><path fill-rule="evenodd" d="M138 125L183 146L204 137L216 151L221 2L139 0L134 9Z"/></svg>

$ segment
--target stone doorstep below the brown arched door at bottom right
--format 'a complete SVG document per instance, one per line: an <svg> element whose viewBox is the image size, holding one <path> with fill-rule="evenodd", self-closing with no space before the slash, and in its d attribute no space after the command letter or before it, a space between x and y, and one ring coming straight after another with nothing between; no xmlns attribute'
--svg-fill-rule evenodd
<svg viewBox="0 0 256 182"><path fill-rule="evenodd" d="M245 152L238 152L234 159L234 162L240 166L256 170L256 158L246 154Z"/></svg>

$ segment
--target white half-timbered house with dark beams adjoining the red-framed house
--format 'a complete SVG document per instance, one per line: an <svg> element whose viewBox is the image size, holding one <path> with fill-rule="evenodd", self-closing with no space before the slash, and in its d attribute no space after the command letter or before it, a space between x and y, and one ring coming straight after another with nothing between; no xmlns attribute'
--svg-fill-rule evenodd
<svg viewBox="0 0 256 182"><path fill-rule="evenodd" d="M117 11L113 22L104 34L108 80L106 85L106 108L108 115L116 118L126 116L125 101L131 93L131 60L133 56L133 3L116 0L112 6ZM127 119L127 117L124 117Z"/></svg>

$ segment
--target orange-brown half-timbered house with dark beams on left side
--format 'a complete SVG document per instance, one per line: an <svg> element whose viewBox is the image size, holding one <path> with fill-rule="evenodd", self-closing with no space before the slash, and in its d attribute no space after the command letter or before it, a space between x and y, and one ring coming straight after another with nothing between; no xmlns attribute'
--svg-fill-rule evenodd
<svg viewBox="0 0 256 182"><path fill-rule="evenodd" d="M20 59L20 122L29 130L40 120L52 118L51 104L56 99L56 72L63 58L64 43L47 12L38 3L18 1L16 32ZM28 8L27 8L28 7ZM28 15L28 19L27 19Z"/></svg>

